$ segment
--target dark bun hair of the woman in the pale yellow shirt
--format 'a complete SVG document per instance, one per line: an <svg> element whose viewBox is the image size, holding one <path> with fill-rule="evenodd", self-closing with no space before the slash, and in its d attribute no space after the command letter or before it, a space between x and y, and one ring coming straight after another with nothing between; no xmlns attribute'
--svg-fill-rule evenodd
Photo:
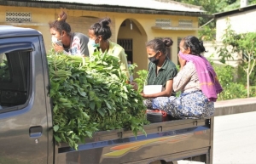
<svg viewBox="0 0 256 164"><path fill-rule="evenodd" d="M112 36L112 32L109 26L110 23L111 20L108 17L106 17L100 20L98 23L91 25L89 30L94 31L96 37L102 36L102 39L106 41Z"/></svg>

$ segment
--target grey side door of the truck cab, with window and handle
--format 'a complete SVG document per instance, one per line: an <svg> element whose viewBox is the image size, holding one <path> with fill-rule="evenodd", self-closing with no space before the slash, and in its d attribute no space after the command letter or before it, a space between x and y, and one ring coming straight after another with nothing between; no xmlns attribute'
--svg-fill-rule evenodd
<svg viewBox="0 0 256 164"><path fill-rule="evenodd" d="M40 39L0 39L0 163L53 162Z"/></svg>

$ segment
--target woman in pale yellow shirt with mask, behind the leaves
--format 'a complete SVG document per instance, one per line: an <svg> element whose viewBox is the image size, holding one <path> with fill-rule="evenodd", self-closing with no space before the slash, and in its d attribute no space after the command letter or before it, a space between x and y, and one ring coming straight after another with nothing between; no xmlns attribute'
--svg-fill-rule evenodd
<svg viewBox="0 0 256 164"><path fill-rule="evenodd" d="M111 20L109 18L104 18L90 26L88 31L90 38L88 42L89 54L92 55L95 51L100 51L119 58L120 68L122 71L125 71L126 76L129 78L125 49L119 46L119 44L108 40L112 36L110 23Z"/></svg>

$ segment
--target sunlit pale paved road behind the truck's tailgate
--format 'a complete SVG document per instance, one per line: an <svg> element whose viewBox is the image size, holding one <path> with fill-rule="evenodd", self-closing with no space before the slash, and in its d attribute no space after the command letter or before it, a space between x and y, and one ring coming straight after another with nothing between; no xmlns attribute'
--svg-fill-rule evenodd
<svg viewBox="0 0 256 164"><path fill-rule="evenodd" d="M214 124L213 164L256 164L256 112L216 116Z"/></svg>

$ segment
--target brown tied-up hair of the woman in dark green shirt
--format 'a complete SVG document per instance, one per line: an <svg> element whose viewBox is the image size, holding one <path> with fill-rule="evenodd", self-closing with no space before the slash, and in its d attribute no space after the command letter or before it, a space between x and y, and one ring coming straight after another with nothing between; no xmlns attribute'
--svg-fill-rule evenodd
<svg viewBox="0 0 256 164"><path fill-rule="evenodd" d="M154 52L162 52L163 54L167 54L166 48L172 46L172 39L170 37L165 37L163 39L153 39L146 43L147 48L152 48Z"/></svg>

